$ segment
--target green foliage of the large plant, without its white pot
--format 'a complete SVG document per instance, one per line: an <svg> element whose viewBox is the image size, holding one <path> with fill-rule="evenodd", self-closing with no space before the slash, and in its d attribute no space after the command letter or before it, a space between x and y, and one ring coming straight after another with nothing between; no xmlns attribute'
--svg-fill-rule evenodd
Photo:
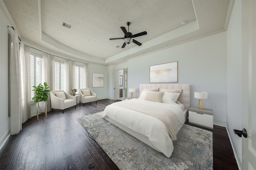
<svg viewBox="0 0 256 170"><path fill-rule="evenodd" d="M48 100L48 94L50 90L48 90L48 84L47 82L44 82L44 84L39 84L38 86L33 86L35 91L35 96L32 98L35 103L37 102L46 102Z"/></svg>

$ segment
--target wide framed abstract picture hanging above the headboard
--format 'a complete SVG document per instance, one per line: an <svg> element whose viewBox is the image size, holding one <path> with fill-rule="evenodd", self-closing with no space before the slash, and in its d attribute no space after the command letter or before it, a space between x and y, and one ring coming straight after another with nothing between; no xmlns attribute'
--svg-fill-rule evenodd
<svg viewBox="0 0 256 170"><path fill-rule="evenodd" d="M178 61L149 67L150 83L178 82Z"/></svg>

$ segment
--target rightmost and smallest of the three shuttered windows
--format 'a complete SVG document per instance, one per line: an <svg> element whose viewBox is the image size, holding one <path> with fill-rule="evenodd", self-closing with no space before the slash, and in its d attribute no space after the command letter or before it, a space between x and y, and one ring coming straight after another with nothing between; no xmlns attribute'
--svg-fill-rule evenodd
<svg viewBox="0 0 256 170"><path fill-rule="evenodd" d="M84 88L84 66L75 66L75 88Z"/></svg>

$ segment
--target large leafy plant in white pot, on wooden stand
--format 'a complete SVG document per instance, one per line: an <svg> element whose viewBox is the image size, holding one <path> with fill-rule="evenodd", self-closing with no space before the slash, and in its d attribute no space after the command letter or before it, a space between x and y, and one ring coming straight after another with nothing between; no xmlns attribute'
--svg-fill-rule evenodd
<svg viewBox="0 0 256 170"><path fill-rule="evenodd" d="M35 91L35 96L32 98L35 103L38 103L38 112L44 112L46 111L46 104L48 101L48 94L50 90L48 90L48 84L47 82L44 82L44 84L39 84L38 86L33 86Z"/></svg>

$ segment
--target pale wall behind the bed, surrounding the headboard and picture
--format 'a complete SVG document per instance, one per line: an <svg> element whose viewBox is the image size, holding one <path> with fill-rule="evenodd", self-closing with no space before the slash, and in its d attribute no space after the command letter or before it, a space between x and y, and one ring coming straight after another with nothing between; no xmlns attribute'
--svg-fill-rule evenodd
<svg viewBox="0 0 256 170"><path fill-rule="evenodd" d="M191 85L191 106L198 107L195 91L208 92L203 107L213 109L214 124L226 126L226 32L130 59L128 88L136 88L134 97L139 84L149 84L149 66L173 61L178 61L178 84Z"/></svg>

